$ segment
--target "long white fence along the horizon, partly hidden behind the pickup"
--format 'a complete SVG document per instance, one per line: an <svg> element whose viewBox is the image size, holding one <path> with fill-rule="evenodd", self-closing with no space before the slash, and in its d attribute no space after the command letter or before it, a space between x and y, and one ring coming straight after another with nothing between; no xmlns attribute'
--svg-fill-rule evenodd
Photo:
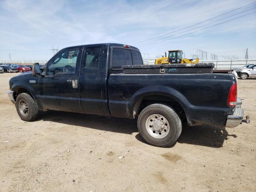
<svg viewBox="0 0 256 192"><path fill-rule="evenodd" d="M32 65L33 63L39 63L41 65L46 64L47 60L0 60L1 64L25 64L25 65ZM215 68L218 70L225 70L225 69L233 69L237 67L245 66L246 64L253 64L256 63L256 60L199 60L200 63L214 63ZM144 59L144 65L154 65L154 59Z"/></svg>

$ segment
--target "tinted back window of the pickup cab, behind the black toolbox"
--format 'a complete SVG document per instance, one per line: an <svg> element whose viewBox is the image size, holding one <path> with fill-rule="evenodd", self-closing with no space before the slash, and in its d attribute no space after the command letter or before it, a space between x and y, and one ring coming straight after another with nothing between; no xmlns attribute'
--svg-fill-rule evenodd
<svg viewBox="0 0 256 192"><path fill-rule="evenodd" d="M114 48L112 53L112 68L120 69L123 65L143 65L140 52Z"/></svg>

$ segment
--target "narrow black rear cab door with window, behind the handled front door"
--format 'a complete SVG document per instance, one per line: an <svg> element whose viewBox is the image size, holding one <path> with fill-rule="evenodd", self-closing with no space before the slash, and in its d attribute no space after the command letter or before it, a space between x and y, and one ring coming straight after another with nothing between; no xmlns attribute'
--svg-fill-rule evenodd
<svg viewBox="0 0 256 192"><path fill-rule="evenodd" d="M104 46L97 45L84 47L79 90L81 108L85 114L104 115L102 108L103 49Z"/></svg>

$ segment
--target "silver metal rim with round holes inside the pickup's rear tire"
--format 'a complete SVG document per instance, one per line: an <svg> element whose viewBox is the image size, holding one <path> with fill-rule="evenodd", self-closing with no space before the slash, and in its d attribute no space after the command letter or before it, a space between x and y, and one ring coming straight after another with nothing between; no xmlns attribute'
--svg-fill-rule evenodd
<svg viewBox="0 0 256 192"><path fill-rule="evenodd" d="M146 130L152 137L161 139L168 135L170 125L164 116L153 114L146 120Z"/></svg>

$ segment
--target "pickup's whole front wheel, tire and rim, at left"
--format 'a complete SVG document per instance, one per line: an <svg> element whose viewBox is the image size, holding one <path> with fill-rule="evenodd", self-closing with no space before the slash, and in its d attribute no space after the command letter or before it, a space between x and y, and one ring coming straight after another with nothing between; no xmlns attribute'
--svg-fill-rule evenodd
<svg viewBox="0 0 256 192"><path fill-rule="evenodd" d="M15 106L18 115L23 121L33 121L38 118L39 110L36 102L29 94L19 94L16 98Z"/></svg>

